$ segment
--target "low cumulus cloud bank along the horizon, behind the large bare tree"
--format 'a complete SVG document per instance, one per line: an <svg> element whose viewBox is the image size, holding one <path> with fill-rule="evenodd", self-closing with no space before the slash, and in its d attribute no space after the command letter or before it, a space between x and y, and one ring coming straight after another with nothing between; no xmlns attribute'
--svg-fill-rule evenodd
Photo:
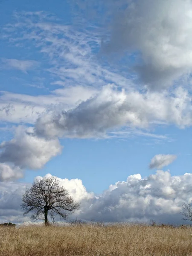
<svg viewBox="0 0 192 256"><path fill-rule="evenodd" d="M45 177L50 176L46 175ZM36 177L36 179L44 177ZM72 218L86 221L150 221L181 224L183 202L192 200L192 174L171 176L169 172L142 178L130 175L126 181L110 185L101 195L87 192L79 179L59 179L70 195L81 202ZM23 222L21 195L30 184L0 182L0 221Z"/></svg>

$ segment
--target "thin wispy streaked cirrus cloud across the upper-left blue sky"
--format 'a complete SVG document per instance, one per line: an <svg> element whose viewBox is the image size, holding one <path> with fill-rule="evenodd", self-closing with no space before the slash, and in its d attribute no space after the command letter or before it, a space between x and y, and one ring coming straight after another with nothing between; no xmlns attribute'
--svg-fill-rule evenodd
<svg viewBox="0 0 192 256"><path fill-rule="evenodd" d="M39 49L39 54L44 57L41 68L48 71L51 84L59 82L65 87L79 85L97 88L106 83L131 86L131 80L119 72L118 66L111 68L99 61L96 52L100 47L100 32L96 27L81 29L83 25L75 28L62 25L61 22L57 23L55 17L50 21L51 14L46 12L21 12L14 16L15 23L3 28L5 40L14 43L14 46L27 41Z"/></svg>

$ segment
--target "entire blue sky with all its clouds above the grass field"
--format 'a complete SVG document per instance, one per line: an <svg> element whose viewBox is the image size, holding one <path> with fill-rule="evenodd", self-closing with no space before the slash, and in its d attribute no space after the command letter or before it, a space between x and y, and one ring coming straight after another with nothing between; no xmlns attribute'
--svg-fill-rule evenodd
<svg viewBox="0 0 192 256"><path fill-rule="evenodd" d="M183 224L192 1L0 2L0 222L55 175L85 221Z"/></svg>

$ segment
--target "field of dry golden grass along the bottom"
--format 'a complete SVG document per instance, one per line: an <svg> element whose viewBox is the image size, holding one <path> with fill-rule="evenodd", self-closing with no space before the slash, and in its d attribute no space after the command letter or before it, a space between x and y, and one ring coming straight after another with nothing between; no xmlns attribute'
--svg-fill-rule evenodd
<svg viewBox="0 0 192 256"><path fill-rule="evenodd" d="M191 256L192 228L0 227L0 256Z"/></svg>

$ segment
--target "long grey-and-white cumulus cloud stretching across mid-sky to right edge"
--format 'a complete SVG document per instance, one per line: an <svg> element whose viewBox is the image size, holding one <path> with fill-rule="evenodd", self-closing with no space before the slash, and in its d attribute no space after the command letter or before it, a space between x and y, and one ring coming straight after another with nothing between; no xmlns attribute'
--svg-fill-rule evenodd
<svg viewBox="0 0 192 256"><path fill-rule="evenodd" d="M165 122L185 127L192 124L191 96L179 88L166 93L126 93L108 85L96 96L69 111L41 116L38 134L46 137L102 137L121 126L147 128L151 123Z"/></svg>

